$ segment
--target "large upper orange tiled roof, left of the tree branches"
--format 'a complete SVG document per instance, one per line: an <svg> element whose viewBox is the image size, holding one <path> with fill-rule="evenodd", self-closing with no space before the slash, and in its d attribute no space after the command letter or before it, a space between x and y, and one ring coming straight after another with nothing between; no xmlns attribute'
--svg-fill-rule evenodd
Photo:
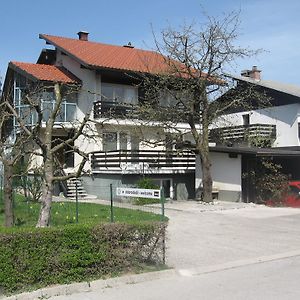
<svg viewBox="0 0 300 300"><path fill-rule="evenodd" d="M46 34L40 34L40 38L90 67L154 74L170 70L166 58L154 51Z"/></svg>

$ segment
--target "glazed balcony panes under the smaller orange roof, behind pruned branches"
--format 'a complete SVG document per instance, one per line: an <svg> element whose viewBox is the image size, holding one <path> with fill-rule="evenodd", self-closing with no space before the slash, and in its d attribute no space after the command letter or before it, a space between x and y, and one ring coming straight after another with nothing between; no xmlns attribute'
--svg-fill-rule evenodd
<svg viewBox="0 0 300 300"><path fill-rule="evenodd" d="M54 101L41 101L41 111L43 112L43 122L49 120L50 114L55 106ZM72 122L76 119L76 103L69 103L63 101L61 104L60 111L55 119L55 123L66 123ZM18 105L16 106L18 115L28 126L33 126L37 122L37 113L33 110L30 105ZM15 124L16 126L18 124Z"/></svg>

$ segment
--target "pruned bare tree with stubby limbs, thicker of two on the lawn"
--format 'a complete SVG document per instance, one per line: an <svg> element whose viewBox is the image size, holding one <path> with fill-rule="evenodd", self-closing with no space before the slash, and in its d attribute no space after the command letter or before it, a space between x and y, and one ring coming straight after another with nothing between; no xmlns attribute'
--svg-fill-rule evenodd
<svg viewBox="0 0 300 300"><path fill-rule="evenodd" d="M34 92L31 91L30 94L27 94L24 97L23 101L28 105L28 114L35 114L37 116L34 124L31 126L26 124L26 118L28 116L25 116L25 118L24 116L21 116L9 101L3 102L3 105L7 107L10 114L14 117L22 135L25 135L28 139L32 140L34 146L29 151L31 155L42 157L42 165L40 168L43 185L41 209L36 225L37 227L47 227L50 224L54 183L64 182L73 177L79 177L89 156L89 153L85 153L81 151L79 147L75 146L74 142L82 135L88 136L85 132L85 127L87 127L90 119L90 112L88 112L82 120L70 120L67 127L64 127L63 123L57 122L62 110L65 96L64 93L75 93L76 89L72 86L65 86L59 83L54 84L54 86L48 86L47 89L54 90L54 102L53 107L47 112L46 120L45 110L41 106L40 101L41 89L35 89ZM55 138L54 132L57 129L57 126L68 132L71 130L73 134L63 140ZM59 152L65 148L68 148L68 151L79 154L82 158L77 169L69 174L63 172L63 166L58 159Z"/></svg>

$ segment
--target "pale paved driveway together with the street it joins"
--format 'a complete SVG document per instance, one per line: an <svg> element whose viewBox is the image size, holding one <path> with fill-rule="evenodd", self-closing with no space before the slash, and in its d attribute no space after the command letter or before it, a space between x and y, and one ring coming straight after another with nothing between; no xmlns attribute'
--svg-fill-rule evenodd
<svg viewBox="0 0 300 300"><path fill-rule="evenodd" d="M51 299L300 299L299 209L170 206L173 275Z"/></svg>

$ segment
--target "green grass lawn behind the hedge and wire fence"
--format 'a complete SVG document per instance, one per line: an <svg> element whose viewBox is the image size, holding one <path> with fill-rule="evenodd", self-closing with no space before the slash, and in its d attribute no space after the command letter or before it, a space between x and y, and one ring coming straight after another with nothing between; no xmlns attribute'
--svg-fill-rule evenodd
<svg viewBox="0 0 300 300"><path fill-rule="evenodd" d="M1 199L0 199L1 201ZM15 196L15 224L16 226L35 226L40 210L39 203L27 202L21 195ZM110 222L110 206L79 202L79 223L107 223ZM114 221L134 223L140 221L160 221L161 216L126 208L114 207ZM51 226L63 226L76 223L76 204L74 202L53 202L51 209ZM0 226L4 224L4 206L0 202Z"/></svg>

